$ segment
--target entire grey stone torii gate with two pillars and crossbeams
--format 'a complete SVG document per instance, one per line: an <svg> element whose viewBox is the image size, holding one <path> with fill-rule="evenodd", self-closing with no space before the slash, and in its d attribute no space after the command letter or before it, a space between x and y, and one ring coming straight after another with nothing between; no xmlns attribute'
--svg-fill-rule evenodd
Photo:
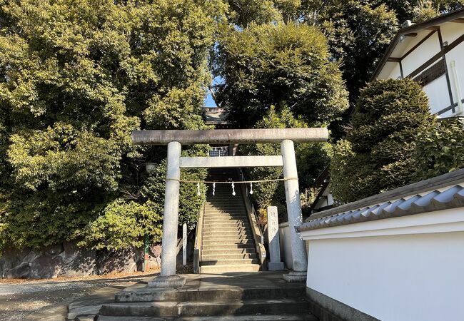
<svg viewBox="0 0 464 321"><path fill-rule="evenodd" d="M296 233L301 225L301 203L293 143L325 142L326 128L215 129L206 131L133 131L132 141L143 145L167 145L168 168L163 212L161 276L148 287L181 287L185 280L176 275L176 243L181 168L283 166L288 225L291 233L293 271L288 281L306 278L306 247ZM280 156L181 157L182 145L280 143Z"/></svg>

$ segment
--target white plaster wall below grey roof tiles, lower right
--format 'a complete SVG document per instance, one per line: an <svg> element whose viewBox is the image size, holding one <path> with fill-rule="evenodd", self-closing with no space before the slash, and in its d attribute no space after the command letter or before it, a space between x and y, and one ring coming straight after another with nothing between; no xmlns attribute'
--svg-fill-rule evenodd
<svg viewBox="0 0 464 321"><path fill-rule="evenodd" d="M311 231L303 232L303 238L311 239L307 286L380 320L463 320L462 214L461 208L374 221L380 231L375 236L358 232L336 238L342 235L330 231L321 236L330 228L314 230L320 234L314 237L308 235ZM442 217L437 215L448 223L432 224ZM382 232L382 221L392 220L398 233L391 228ZM414 221L415 226L410 225ZM363 224L372 227L374 222L353 225L360 231ZM411 232L400 225L410 225ZM432 233L434 229L450 232Z"/></svg>

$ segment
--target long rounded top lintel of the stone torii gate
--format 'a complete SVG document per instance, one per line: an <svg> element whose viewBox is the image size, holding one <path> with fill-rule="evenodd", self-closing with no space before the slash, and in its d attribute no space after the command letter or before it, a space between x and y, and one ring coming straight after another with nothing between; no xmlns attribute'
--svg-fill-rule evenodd
<svg viewBox="0 0 464 321"><path fill-rule="evenodd" d="M328 140L328 131L327 128L268 128L132 132L132 141L138 145L167 145L171 141L183 145L281 143L287 139L294 143L321 143Z"/></svg>

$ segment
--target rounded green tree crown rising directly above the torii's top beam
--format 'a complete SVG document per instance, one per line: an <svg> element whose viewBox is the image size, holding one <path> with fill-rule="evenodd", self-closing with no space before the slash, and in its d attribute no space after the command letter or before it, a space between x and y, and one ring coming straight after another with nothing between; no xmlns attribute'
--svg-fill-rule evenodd
<svg viewBox="0 0 464 321"><path fill-rule="evenodd" d="M329 123L348 108L338 63L326 39L305 24L252 24L223 32L218 44L219 105L233 124L253 127L271 106L288 106L312 125Z"/></svg>

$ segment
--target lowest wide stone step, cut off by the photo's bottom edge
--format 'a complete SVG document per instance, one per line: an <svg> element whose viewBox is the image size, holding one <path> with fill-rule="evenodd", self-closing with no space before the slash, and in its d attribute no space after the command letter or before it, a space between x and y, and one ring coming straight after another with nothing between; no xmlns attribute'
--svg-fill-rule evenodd
<svg viewBox="0 0 464 321"><path fill-rule="evenodd" d="M94 319L92 319L94 320ZM163 321L170 320L164 317L106 317L99 315L95 320L97 321ZM178 320L178 319L171 319ZM301 314L301 315L234 315L228 316L223 315L218 317L182 317L183 321L287 321L287 320L308 320L317 321L318 319L313 315Z"/></svg>

